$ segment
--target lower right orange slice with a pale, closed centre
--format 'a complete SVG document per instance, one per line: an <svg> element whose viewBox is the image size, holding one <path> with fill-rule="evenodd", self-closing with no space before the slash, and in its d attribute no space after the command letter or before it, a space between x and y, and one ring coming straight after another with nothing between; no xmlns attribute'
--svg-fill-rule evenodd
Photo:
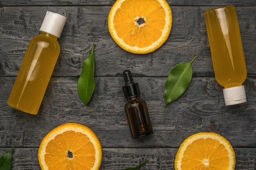
<svg viewBox="0 0 256 170"><path fill-rule="evenodd" d="M181 144L175 170L234 170L236 156L229 141L213 132L190 136Z"/></svg>

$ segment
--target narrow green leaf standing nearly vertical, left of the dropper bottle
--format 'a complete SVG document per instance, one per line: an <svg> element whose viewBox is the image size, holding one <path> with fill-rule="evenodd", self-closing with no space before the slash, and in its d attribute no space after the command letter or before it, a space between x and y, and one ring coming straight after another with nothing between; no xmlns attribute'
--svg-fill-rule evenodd
<svg viewBox="0 0 256 170"><path fill-rule="evenodd" d="M81 101L85 104L90 113L88 103L92 97L95 88L94 82L94 44L89 57L83 62L83 70L77 82L77 91Z"/></svg>

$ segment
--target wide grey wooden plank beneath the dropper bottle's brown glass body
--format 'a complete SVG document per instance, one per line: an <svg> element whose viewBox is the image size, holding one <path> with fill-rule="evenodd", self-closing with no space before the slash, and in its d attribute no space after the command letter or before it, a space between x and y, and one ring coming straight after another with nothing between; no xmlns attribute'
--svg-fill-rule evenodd
<svg viewBox="0 0 256 170"><path fill-rule="evenodd" d="M0 146L38 147L53 128L67 122L90 127L103 147L178 147L197 132L215 132L233 146L256 146L256 78L245 82L247 103L225 106L213 77L194 77L187 91L164 108L165 77L135 77L148 104L154 134L134 140L124 112L122 77L97 77L89 114L77 94L76 77L52 77L38 115L7 105L15 77L0 77Z"/></svg>

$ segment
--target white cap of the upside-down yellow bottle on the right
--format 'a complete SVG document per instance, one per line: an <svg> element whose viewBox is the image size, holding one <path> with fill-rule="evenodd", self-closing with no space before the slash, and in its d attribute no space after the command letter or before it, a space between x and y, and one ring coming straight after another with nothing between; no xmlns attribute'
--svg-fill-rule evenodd
<svg viewBox="0 0 256 170"><path fill-rule="evenodd" d="M224 88L223 93L226 106L247 102L245 86Z"/></svg>

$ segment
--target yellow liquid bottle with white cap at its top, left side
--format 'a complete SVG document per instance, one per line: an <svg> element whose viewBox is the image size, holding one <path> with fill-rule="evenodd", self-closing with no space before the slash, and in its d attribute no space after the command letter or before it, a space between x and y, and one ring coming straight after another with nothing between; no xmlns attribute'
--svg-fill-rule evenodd
<svg viewBox="0 0 256 170"><path fill-rule="evenodd" d="M20 71L13 85L8 105L36 115L60 53L57 38L67 18L47 11L41 34L29 43Z"/></svg>

